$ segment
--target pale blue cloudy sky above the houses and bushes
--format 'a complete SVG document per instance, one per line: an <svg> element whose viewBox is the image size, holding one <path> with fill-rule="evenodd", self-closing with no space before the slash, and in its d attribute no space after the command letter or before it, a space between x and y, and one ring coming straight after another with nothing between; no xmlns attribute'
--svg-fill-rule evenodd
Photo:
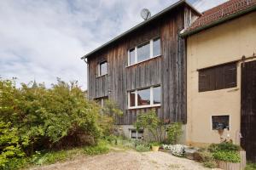
<svg viewBox="0 0 256 170"><path fill-rule="evenodd" d="M226 0L189 0L203 12ZM177 0L0 0L0 77L17 83L79 81L87 88L80 58Z"/></svg>

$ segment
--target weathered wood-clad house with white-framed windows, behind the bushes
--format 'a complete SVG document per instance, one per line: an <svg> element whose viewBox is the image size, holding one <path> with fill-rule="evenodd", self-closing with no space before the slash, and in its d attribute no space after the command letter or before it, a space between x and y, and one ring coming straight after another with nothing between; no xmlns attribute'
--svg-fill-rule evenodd
<svg viewBox="0 0 256 170"><path fill-rule="evenodd" d="M187 122L185 43L179 33L199 15L181 0L82 58L89 98L119 105L124 116L117 122L127 137L137 133L137 114L149 109L166 123Z"/></svg>

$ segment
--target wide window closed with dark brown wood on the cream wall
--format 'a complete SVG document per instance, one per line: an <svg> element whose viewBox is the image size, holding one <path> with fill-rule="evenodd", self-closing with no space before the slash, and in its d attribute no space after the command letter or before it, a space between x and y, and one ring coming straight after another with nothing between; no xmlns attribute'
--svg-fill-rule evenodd
<svg viewBox="0 0 256 170"><path fill-rule="evenodd" d="M199 71L199 92L236 87L236 63L213 66Z"/></svg>

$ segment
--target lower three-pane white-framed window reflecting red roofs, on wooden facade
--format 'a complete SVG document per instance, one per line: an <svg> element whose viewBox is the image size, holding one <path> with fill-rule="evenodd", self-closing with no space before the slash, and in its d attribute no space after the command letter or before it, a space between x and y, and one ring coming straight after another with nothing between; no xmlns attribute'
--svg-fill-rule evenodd
<svg viewBox="0 0 256 170"><path fill-rule="evenodd" d="M160 86L143 88L128 92L128 108L144 108L150 106L160 106L161 91Z"/></svg>

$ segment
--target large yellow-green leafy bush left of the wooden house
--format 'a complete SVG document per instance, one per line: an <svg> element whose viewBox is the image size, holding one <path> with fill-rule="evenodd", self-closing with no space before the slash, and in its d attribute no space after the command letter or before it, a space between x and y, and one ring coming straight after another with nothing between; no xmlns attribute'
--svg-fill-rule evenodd
<svg viewBox="0 0 256 170"><path fill-rule="evenodd" d="M78 82L60 79L51 88L0 79L0 121L11 122L21 138L29 139L26 154L34 150L63 149L96 144L102 129L100 108L85 98Z"/></svg>

